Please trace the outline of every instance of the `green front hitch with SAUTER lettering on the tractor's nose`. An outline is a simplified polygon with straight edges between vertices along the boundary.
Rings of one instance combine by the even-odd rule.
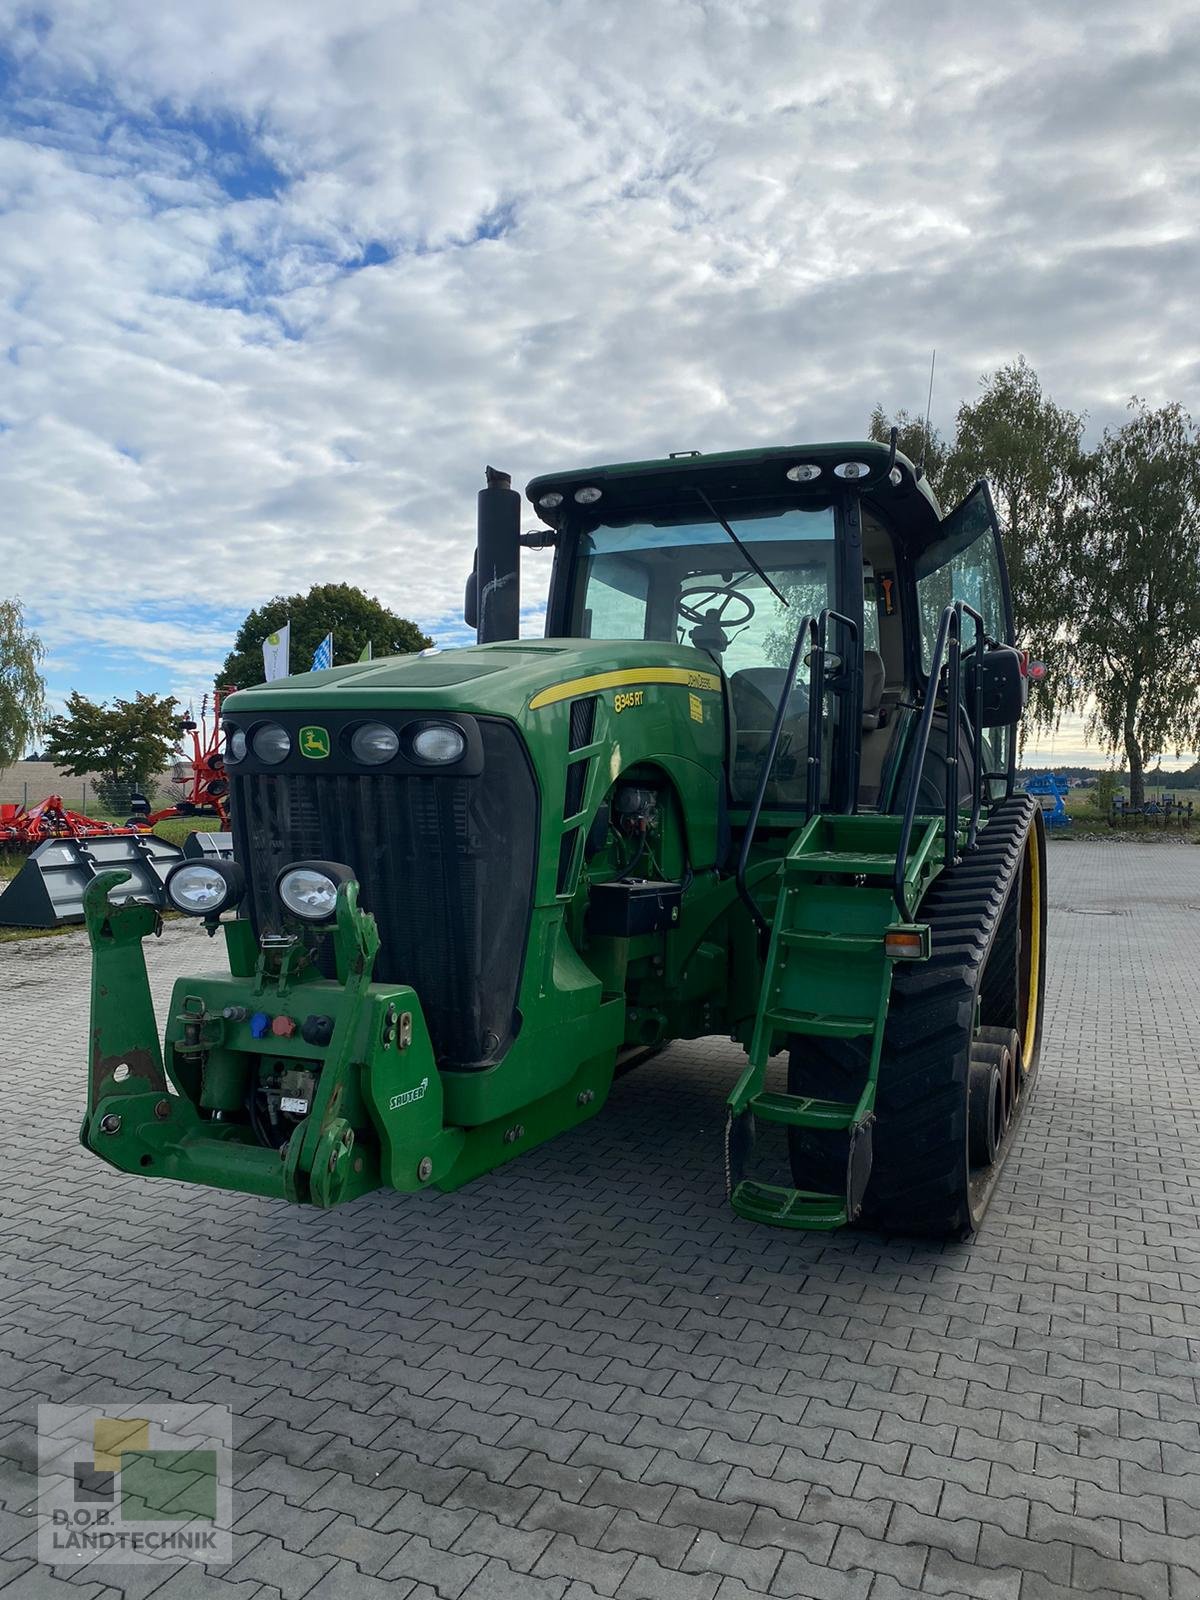
[[[421,1189],[446,1174],[462,1134],[443,1126],[442,1080],[416,994],[371,981],[379,933],[342,883],[336,979],[320,934],[267,938],[226,923],[235,976],[179,979],[165,1051],[142,941],[152,907],[114,906],[106,872],[83,896],[93,950],[86,1149],[125,1173],[165,1176],[317,1206],[379,1184]],[[288,1080],[286,1123],[264,1133],[262,1094]],[[294,1082],[307,1085],[298,1104]],[[254,1107],[259,1107],[256,1115]]]

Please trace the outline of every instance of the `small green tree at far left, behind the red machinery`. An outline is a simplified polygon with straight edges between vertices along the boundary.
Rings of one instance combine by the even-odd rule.
[[[75,778],[98,774],[98,794],[114,811],[131,790],[152,795],[154,779],[179,742],[178,701],[171,694],[134,694],[131,701],[90,701],[78,690],[67,709],[46,723],[46,754]]]

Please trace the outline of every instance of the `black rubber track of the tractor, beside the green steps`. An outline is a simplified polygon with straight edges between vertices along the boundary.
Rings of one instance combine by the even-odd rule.
[[[966,1082],[976,995],[990,952],[995,949],[1003,965],[1010,960],[1005,947],[1016,944],[1018,923],[1005,914],[1016,902],[1019,918],[1013,888],[1034,811],[1034,800],[1014,795],[992,813],[976,850],[939,874],[922,901],[918,915],[930,923],[930,960],[898,962],[893,970],[875,1094],[875,1160],[862,1214],[869,1227],[963,1237],[974,1226]],[[789,1091],[853,1099],[853,1085],[864,1072],[862,1045],[806,1038],[792,1051]],[[838,1189],[845,1146],[800,1134],[792,1136],[790,1150],[794,1182]]]

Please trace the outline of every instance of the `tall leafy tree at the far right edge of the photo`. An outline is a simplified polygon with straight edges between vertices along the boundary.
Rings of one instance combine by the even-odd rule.
[[[1179,405],[1131,411],[1086,458],[1066,522],[1061,654],[1142,805],[1147,758],[1200,741],[1200,434]]]

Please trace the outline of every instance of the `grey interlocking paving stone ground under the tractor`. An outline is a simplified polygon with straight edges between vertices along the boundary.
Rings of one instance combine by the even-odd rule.
[[[734,1218],[715,1042],[456,1195],[122,1178],[83,941],[0,947],[0,1595],[1200,1597],[1200,850],[1050,870],[1040,1083],[955,1246]],[[160,1003],[203,954],[152,947]],[[117,1395],[234,1408],[232,1566],[34,1563],[35,1406]]]

